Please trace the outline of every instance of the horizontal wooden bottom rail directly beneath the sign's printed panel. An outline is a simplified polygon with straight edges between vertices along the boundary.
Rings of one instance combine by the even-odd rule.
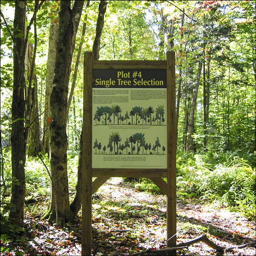
[[[166,169],[101,169],[92,168],[93,177],[152,178],[167,177]]]

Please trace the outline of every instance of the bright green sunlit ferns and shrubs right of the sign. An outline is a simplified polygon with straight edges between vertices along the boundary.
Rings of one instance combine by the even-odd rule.
[[[233,156],[228,163],[209,164],[205,155],[189,155],[177,163],[178,193],[196,194],[206,202],[219,201],[249,219],[255,216],[255,169]],[[211,160],[212,161],[212,160]]]

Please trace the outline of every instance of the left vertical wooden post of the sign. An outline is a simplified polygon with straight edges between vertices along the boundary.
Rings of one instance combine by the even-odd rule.
[[[82,255],[92,253],[92,52],[84,53]]]

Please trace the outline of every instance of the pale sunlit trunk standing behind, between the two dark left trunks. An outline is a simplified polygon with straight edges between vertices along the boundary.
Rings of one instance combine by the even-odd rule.
[[[57,16],[57,12],[54,12]],[[45,103],[44,103],[44,131],[43,131],[43,144],[44,154],[49,152],[50,141],[50,95],[52,94],[52,82],[54,76],[54,67],[56,59],[56,43],[58,36],[59,22],[51,20],[49,32],[49,46],[48,46],[48,59],[47,59],[47,73],[45,81]]]

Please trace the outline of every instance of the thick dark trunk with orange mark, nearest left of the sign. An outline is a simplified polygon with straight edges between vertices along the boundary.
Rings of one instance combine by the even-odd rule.
[[[67,102],[68,82],[72,55],[75,48],[84,1],[60,1],[59,32],[56,48],[53,88],[50,98],[50,166],[52,175],[52,200],[49,220],[58,227],[65,226],[74,216],[70,210],[67,170]],[[56,200],[56,201],[55,201]]]

